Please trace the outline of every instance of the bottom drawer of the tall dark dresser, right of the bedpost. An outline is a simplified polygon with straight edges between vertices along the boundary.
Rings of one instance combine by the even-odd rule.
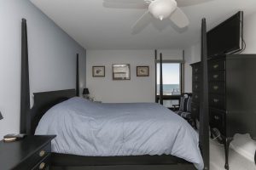
[[[225,135],[225,113],[211,108],[210,126],[211,128],[218,128],[219,132]]]

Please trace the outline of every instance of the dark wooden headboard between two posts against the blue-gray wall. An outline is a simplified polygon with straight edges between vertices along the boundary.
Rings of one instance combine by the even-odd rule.
[[[76,96],[75,89],[58,90],[51,92],[42,92],[34,94],[34,105],[30,111],[31,127],[28,130],[28,134],[34,134],[38,127],[38,122],[44,116],[44,113],[48,111],[54,105],[61,103],[67,99]]]

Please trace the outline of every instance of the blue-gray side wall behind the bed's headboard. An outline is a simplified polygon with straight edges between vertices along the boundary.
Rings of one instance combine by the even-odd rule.
[[[0,139],[20,131],[21,18],[27,20],[31,93],[75,88],[77,53],[85,86],[84,48],[28,0],[0,0]]]

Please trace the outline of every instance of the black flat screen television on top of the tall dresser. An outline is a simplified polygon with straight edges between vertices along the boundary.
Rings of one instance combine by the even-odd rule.
[[[222,54],[234,54],[243,48],[243,12],[225,20],[207,32],[207,55],[212,58]]]

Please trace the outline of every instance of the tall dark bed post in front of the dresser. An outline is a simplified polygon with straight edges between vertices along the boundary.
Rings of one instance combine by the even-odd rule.
[[[201,23],[201,102],[200,102],[200,148],[205,164],[209,169],[209,110],[208,110],[208,69],[207,69],[207,21]]]

